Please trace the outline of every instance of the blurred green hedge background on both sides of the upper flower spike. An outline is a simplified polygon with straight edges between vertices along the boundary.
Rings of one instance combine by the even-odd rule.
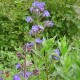
[[[76,0],[43,0],[51,12],[54,21],[53,30],[48,30],[47,36],[71,38],[78,31],[79,20],[74,9]],[[29,25],[25,18],[29,15],[32,0],[2,0],[0,1],[0,49],[14,51],[15,46],[29,40]]]

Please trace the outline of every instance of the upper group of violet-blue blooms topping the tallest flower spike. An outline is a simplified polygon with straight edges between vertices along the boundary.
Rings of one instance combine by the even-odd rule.
[[[45,2],[38,2],[38,1],[34,1],[32,3],[32,7],[30,8],[30,11],[32,14],[36,14],[36,16],[38,15],[38,19],[41,18],[45,18],[45,17],[50,17],[50,13],[48,10],[45,9]],[[33,22],[33,26],[29,32],[30,35],[35,36],[37,33],[39,33],[40,31],[43,31],[46,27],[53,27],[54,23],[50,20],[46,20],[43,21],[43,25],[40,25],[39,23],[37,23],[37,21],[35,21],[35,16],[27,16],[26,21],[27,23],[31,23]],[[40,22],[40,20],[38,21]]]

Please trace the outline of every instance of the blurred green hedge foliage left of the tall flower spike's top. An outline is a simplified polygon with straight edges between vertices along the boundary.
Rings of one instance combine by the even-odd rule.
[[[15,46],[29,40],[26,16],[31,0],[0,1],[0,49],[14,51]]]

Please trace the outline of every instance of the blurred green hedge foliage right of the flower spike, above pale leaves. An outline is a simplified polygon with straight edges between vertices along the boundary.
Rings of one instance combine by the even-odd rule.
[[[44,0],[43,0],[44,1]],[[66,35],[70,38],[78,32],[79,19],[74,6],[78,0],[45,0],[54,22],[53,30],[49,30],[49,37]],[[80,31],[79,31],[80,32]]]

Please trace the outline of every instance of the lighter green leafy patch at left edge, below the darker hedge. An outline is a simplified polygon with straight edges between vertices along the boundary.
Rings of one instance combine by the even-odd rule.
[[[15,57],[15,53],[0,50],[0,64],[3,64],[0,69],[5,68],[5,67],[14,68],[14,65],[17,62],[18,62],[18,59],[17,57]]]

